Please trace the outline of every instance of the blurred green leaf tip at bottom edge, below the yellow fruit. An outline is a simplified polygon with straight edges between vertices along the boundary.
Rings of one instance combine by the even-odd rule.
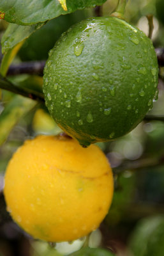
[[[78,252],[69,254],[69,256],[114,256],[114,254],[101,248],[85,247]]]

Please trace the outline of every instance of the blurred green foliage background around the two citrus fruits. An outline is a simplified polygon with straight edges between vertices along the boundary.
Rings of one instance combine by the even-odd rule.
[[[82,10],[50,20],[24,42],[13,65],[46,60],[48,51],[72,24],[97,13],[110,15],[116,6],[116,0],[108,0],[101,9]],[[154,47],[164,48],[164,1],[128,1],[126,20],[146,35],[149,26],[145,15],[149,14],[154,15]],[[0,20],[0,39],[7,26]],[[42,90],[41,76],[22,74],[8,79],[18,86]],[[153,109],[136,129],[119,140],[98,143],[110,161],[115,180],[112,207],[100,228],[88,237],[57,244],[36,241],[13,223],[6,212],[3,177],[10,157],[24,140],[38,134],[58,134],[61,129],[43,104],[0,91],[0,256],[164,255],[163,67],[160,67],[158,90]]]

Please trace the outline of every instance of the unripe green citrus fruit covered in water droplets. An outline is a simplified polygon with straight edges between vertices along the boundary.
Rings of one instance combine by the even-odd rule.
[[[80,144],[130,132],[151,108],[158,63],[147,36],[116,17],[72,26],[49,52],[43,92],[57,124]]]

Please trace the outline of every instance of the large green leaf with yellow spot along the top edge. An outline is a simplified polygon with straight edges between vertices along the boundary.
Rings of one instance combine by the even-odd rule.
[[[1,0],[0,12],[5,13],[4,19],[8,22],[32,25],[78,9],[101,5],[105,1],[107,0],[67,0],[64,4],[65,1],[61,0]]]

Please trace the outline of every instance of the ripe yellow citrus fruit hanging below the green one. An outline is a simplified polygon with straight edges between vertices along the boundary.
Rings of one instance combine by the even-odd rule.
[[[112,201],[110,165],[96,145],[38,136],[15,152],[4,196],[13,220],[45,241],[71,241],[96,229]]]

